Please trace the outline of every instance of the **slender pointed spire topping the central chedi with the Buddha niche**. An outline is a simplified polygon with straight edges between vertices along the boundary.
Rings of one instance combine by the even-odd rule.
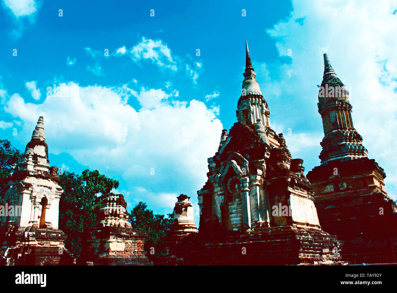
[[[241,97],[237,104],[237,119],[247,125],[256,124],[260,120],[263,125],[269,126],[268,104],[263,98],[259,84],[255,79],[256,73],[252,68],[247,41],[245,41],[245,51],[245,72],[243,73]]]

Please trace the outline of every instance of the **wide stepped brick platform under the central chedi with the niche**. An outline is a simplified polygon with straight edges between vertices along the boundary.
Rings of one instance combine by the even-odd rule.
[[[320,229],[281,226],[189,234],[175,245],[174,256],[159,264],[336,265],[345,264],[341,250],[342,242]]]

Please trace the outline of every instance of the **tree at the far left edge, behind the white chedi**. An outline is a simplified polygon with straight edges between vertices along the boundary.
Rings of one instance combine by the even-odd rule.
[[[0,140],[0,187],[6,184],[6,177],[13,164],[21,162],[23,153],[12,146],[8,140]]]

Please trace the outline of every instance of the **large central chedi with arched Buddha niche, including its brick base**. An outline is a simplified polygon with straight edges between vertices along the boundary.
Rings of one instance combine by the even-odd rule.
[[[208,159],[208,180],[198,191],[199,233],[176,249],[181,264],[337,264],[342,243],[324,232],[304,176],[269,109],[251,64],[246,69],[237,120],[222,131]],[[176,207],[175,207],[176,209]]]

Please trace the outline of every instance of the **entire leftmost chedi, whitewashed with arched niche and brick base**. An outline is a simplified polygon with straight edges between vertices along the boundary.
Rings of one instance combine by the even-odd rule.
[[[22,163],[14,165],[0,190],[6,208],[0,227],[0,264],[71,264],[58,230],[58,168],[50,167],[43,117],[39,118]]]

